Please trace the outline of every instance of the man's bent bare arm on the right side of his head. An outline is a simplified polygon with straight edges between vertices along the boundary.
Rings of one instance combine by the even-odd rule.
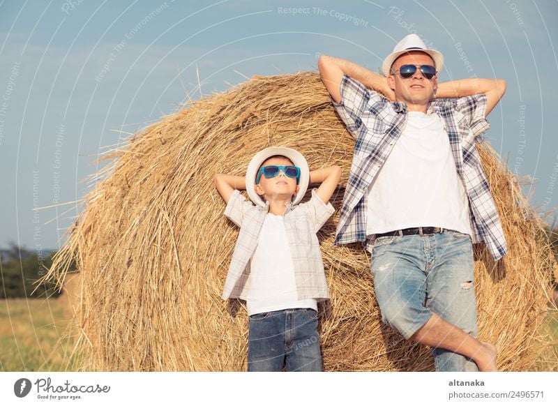
[[[506,81],[503,79],[462,79],[438,84],[437,98],[459,98],[486,93],[485,116],[498,104],[506,92]]]

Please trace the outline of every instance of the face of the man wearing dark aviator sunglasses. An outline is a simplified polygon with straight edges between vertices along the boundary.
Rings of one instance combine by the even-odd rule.
[[[417,66],[416,72],[405,79],[399,74],[399,68],[403,65],[434,65],[430,55],[420,51],[411,51],[402,54],[395,59],[391,66],[391,75],[387,78],[389,87],[395,92],[395,100],[407,103],[407,105],[427,105],[434,98],[438,88],[437,75],[432,80],[426,79]],[[395,74],[393,74],[395,73]]]

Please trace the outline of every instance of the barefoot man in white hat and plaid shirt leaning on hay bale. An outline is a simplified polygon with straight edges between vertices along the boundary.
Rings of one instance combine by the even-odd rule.
[[[414,34],[384,60],[384,77],[319,59],[356,138],[335,244],[361,241],[372,253],[382,319],[432,347],[436,370],[497,370],[495,345],[476,338],[472,242],[495,260],[507,246],[474,138],[506,82],[438,84],[443,65]]]

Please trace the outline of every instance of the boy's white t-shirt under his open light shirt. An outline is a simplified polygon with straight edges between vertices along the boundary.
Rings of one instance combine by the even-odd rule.
[[[283,217],[268,213],[250,262],[248,315],[292,308],[317,310],[315,299],[298,300]]]

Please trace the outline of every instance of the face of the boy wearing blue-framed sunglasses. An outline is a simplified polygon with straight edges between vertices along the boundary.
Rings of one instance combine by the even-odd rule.
[[[272,157],[264,160],[262,166],[266,165],[294,165],[291,160],[284,157]],[[289,178],[280,170],[279,174],[273,178],[260,176],[259,183],[255,186],[256,193],[266,201],[273,200],[292,200],[299,193],[299,185],[296,178]]]

